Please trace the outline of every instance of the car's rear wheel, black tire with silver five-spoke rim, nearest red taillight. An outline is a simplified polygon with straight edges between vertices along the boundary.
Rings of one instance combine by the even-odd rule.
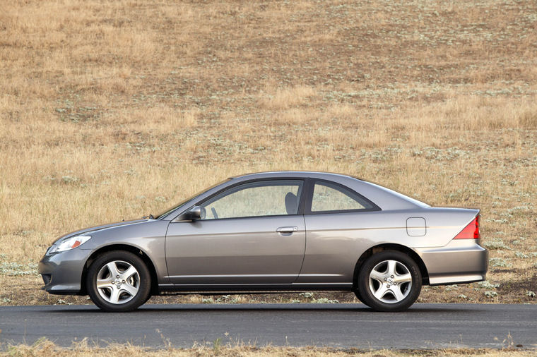
[[[362,301],[374,310],[406,310],[420,295],[420,268],[405,253],[384,250],[363,263],[358,275],[358,290]]]

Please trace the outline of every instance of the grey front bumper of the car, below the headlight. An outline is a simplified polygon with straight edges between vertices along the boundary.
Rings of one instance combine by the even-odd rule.
[[[90,253],[91,250],[74,248],[45,255],[37,267],[45,282],[41,289],[49,294],[80,294],[82,272]]]

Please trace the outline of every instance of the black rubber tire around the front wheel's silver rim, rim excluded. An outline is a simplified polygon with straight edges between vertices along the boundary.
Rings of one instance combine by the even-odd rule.
[[[131,301],[122,304],[113,304],[105,301],[99,294],[97,289],[97,274],[100,269],[108,262],[114,260],[122,260],[128,262],[138,270],[140,276],[140,287],[138,294],[131,299]],[[92,262],[88,270],[88,279],[86,281],[86,287],[91,301],[95,303],[103,311],[110,313],[124,313],[127,311],[136,310],[138,306],[142,305],[148,300],[151,293],[151,274],[146,266],[146,263],[133,253],[114,250],[111,252],[100,255],[95,261]]]

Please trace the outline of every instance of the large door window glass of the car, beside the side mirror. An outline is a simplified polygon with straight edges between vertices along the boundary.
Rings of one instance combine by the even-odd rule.
[[[201,219],[297,214],[301,193],[299,180],[245,183],[203,202]]]

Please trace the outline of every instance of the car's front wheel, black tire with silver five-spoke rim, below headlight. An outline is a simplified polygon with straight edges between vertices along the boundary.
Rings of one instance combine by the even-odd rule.
[[[90,265],[86,286],[91,300],[101,310],[125,313],[136,310],[151,296],[151,274],[137,255],[114,250],[100,255]]]

